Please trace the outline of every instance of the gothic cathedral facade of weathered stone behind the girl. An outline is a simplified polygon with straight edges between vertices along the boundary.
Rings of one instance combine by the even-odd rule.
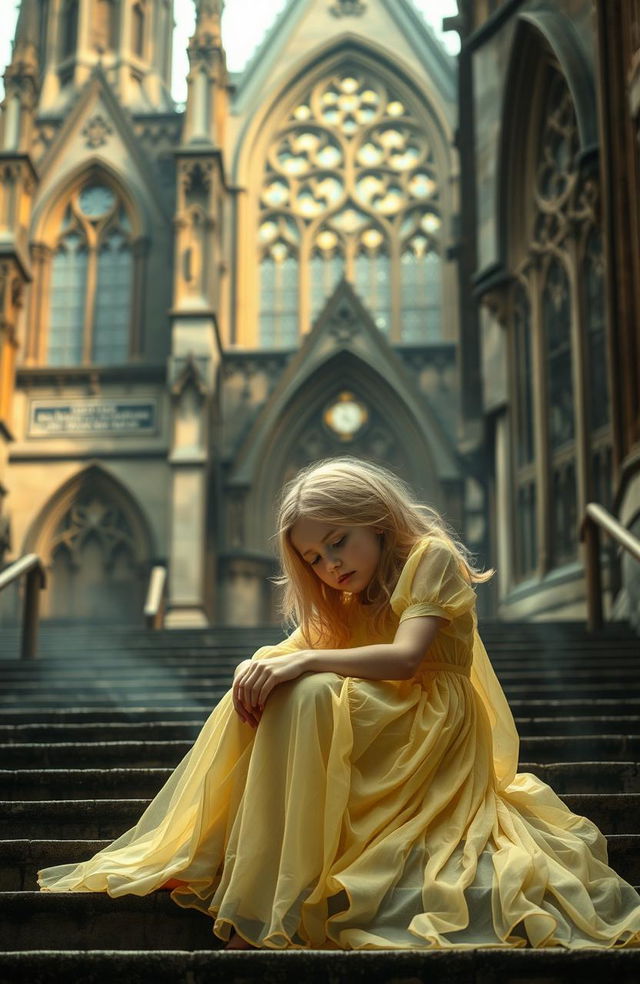
[[[139,623],[164,565],[169,626],[276,623],[278,490],[349,453],[497,568],[485,613],[583,617],[586,503],[640,515],[640,4],[460,2],[454,59],[411,0],[289,0],[236,74],[195,6],[177,106],[173,0],[22,0],[0,559],[49,618]]]

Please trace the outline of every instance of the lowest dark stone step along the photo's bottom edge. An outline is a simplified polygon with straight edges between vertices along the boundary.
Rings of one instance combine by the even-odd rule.
[[[147,918],[147,912],[142,911]],[[640,950],[634,949],[210,949],[216,945],[219,944],[210,943],[204,950],[191,952],[185,952],[184,946],[149,952],[8,952],[2,957],[2,965],[11,984],[638,984],[640,980]]]

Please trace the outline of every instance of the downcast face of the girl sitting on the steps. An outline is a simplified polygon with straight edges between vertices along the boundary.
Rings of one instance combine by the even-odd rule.
[[[321,581],[338,591],[364,591],[378,567],[382,530],[300,518],[291,542]]]

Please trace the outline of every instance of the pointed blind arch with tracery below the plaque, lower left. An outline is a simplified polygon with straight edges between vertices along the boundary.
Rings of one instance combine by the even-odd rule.
[[[25,550],[48,571],[45,617],[141,621],[153,538],[135,498],[102,466],[83,468],[51,496]]]

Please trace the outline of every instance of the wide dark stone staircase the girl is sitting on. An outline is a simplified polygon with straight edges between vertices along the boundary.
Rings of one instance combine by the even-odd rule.
[[[521,735],[521,770],[607,834],[640,885],[640,640],[574,623],[486,623]],[[38,868],[89,857],[132,826],[189,749],[232,671],[282,634],[46,626],[39,659],[0,630],[0,984],[640,982],[640,950],[225,952],[167,893],[46,894]]]

